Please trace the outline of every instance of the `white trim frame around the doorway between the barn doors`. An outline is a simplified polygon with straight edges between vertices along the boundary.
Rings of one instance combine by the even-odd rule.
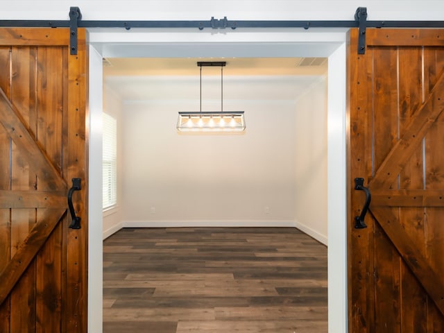
[[[187,32],[188,33],[188,32]],[[109,34],[109,33],[108,33]],[[106,38],[104,39],[106,35]],[[156,56],[164,57],[169,52],[178,54],[178,50],[182,51],[184,56],[191,56],[190,53],[198,53],[198,56],[210,56],[211,54],[221,55],[222,57],[239,57],[246,56],[251,52],[255,52],[257,56],[270,57],[282,55],[287,57],[309,57],[309,56],[323,56],[329,58],[329,70],[328,80],[329,83],[334,80],[334,85],[328,85],[328,125],[327,125],[327,216],[328,216],[328,252],[329,258],[331,255],[335,255],[334,265],[329,266],[329,301],[335,300],[335,307],[330,307],[329,311],[329,325],[333,327],[345,327],[346,325],[346,266],[345,266],[345,32],[326,33],[318,31],[318,33],[295,33],[294,31],[273,31],[272,35],[268,35],[264,38],[264,32],[247,32],[245,34],[235,33],[233,35],[216,35],[216,40],[219,42],[205,42],[207,35],[201,35],[204,41],[196,43],[196,33],[189,32],[189,42],[160,42],[157,39],[164,39],[164,35],[157,35],[157,33],[142,32],[136,37],[133,35],[132,42],[125,42],[128,40],[128,36],[123,36],[120,33],[111,33],[112,37],[107,34],[97,33],[94,31],[90,33],[90,87],[91,95],[96,96],[93,92],[101,92],[101,87],[92,85],[92,82],[102,84],[102,71],[96,68],[101,65],[102,58],[112,57],[139,57]],[[126,35],[126,34],[125,34]],[[230,35],[230,36],[229,36]],[[206,36],[206,37],[205,37]],[[228,36],[228,37],[227,37]],[[181,35],[180,37],[184,37]],[[225,38],[227,37],[227,38]],[[221,42],[220,39],[225,41]],[[239,43],[239,38],[244,42]],[[139,40],[139,42],[135,42]],[[104,42],[104,40],[107,40]],[[112,40],[112,42],[109,42]],[[157,40],[157,41],[156,41]],[[187,40],[187,38],[185,38]],[[245,42],[249,40],[249,42]],[[278,41],[278,42],[276,42]],[[279,42],[280,41],[280,42]],[[271,47],[273,46],[273,47]],[[247,51],[248,50],[248,51]],[[262,50],[262,51],[261,51]],[[273,53],[273,54],[271,54]],[[171,54],[171,53],[170,53]],[[196,56],[196,54],[194,54]],[[94,65],[95,64],[95,65]],[[332,65],[331,65],[332,64]],[[92,66],[94,65],[94,68]],[[94,90],[95,89],[95,90]],[[94,91],[93,91],[94,90]],[[92,98],[94,99],[94,98]],[[101,116],[96,112],[102,110],[101,101],[90,100],[90,117],[92,119],[90,133],[90,173],[94,173],[97,167],[101,167],[101,160],[94,160],[92,151],[94,151],[94,142],[99,146],[99,137],[94,135],[94,117],[96,119]],[[94,107],[94,108],[92,108]],[[99,123],[97,121],[96,123]],[[248,123],[247,123],[248,126]],[[96,133],[100,133],[100,128],[96,129]],[[97,141],[94,141],[97,140]],[[94,164],[95,168],[94,169]],[[341,171],[343,170],[343,171]],[[90,179],[93,179],[92,177]],[[94,185],[91,184],[91,189],[94,189]],[[92,206],[91,200],[94,198],[94,194],[90,196],[90,207]],[[96,195],[95,198],[99,198]],[[90,212],[90,214],[98,217],[101,212]],[[90,216],[90,220],[92,216]],[[97,227],[94,230],[102,233],[101,228]],[[100,230],[100,231],[99,231]],[[333,230],[334,232],[330,232]],[[92,239],[93,238],[93,239]],[[101,237],[93,231],[90,234],[89,244],[90,248],[96,248],[101,253],[101,245],[99,244],[99,238]],[[90,250],[91,253],[91,250]],[[91,256],[92,254],[90,254]],[[90,257],[89,266],[92,268],[92,262],[95,262],[94,268],[98,271],[101,269],[101,265],[96,266],[97,255]],[[330,264],[330,262],[329,262]],[[99,272],[98,272],[99,273]],[[91,277],[90,273],[90,277]],[[98,275],[94,275],[96,278],[101,278],[101,272]],[[89,289],[92,290],[94,285],[100,285],[98,280],[89,281]],[[330,286],[333,284],[333,287]],[[338,289],[338,285],[341,287]],[[336,287],[334,287],[336,286]],[[101,285],[100,285],[101,287]],[[101,288],[100,288],[101,289]],[[94,288],[95,290],[95,288]],[[330,294],[331,293],[331,294]],[[97,294],[96,294],[97,296]],[[334,298],[332,298],[334,297]],[[342,306],[338,307],[339,300]],[[93,294],[89,295],[89,305],[99,302]],[[336,323],[335,318],[336,317]],[[338,319],[339,318],[339,319]],[[91,319],[91,316],[90,316]],[[339,321],[339,323],[338,323]],[[94,325],[101,325],[99,323],[90,323],[90,327]],[[97,326],[96,326],[97,327]]]

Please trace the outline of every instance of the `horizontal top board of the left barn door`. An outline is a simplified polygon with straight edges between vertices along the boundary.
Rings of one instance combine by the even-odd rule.
[[[69,29],[65,28],[7,28],[0,31],[0,45],[68,46]]]

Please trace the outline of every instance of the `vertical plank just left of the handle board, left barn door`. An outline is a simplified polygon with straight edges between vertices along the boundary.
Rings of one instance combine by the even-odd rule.
[[[37,141],[53,165],[62,169],[62,123],[65,106],[64,58],[66,48],[37,49]],[[44,179],[40,190],[50,190]],[[37,212],[40,214],[40,212]],[[62,302],[62,223],[59,223],[37,255],[37,332],[60,332]]]

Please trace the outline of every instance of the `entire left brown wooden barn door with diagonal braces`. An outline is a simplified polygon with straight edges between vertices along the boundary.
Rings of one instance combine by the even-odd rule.
[[[0,332],[86,332],[86,87],[84,30],[0,29]]]

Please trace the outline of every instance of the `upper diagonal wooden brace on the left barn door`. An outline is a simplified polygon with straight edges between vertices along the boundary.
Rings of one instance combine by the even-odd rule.
[[[65,181],[60,173],[53,167],[44,149],[35,142],[30,130],[26,127],[24,119],[17,108],[8,101],[3,90],[0,89],[0,122],[6,129],[12,141],[20,149],[20,153],[28,161],[33,161],[37,175],[51,184],[51,189],[66,189]]]

